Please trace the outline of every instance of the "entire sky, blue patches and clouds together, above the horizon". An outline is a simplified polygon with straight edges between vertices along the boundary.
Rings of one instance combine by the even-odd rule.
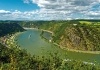
[[[100,19],[100,0],[0,0],[0,20]]]

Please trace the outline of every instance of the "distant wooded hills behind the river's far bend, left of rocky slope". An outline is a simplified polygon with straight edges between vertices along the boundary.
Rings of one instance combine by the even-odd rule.
[[[55,30],[61,24],[66,23],[66,21],[23,21],[19,25],[22,27],[38,28],[38,29],[48,29]]]

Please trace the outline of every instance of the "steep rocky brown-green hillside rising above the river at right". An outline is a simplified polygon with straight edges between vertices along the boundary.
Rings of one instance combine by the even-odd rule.
[[[63,24],[55,32],[53,41],[77,50],[100,50],[100,28],[94,25]]]

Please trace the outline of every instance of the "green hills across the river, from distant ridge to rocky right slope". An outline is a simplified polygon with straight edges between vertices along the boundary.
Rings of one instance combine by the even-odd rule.
[[[62,47],[100,51],[99,20],[31,21],[20,25],[53,31],[53,42]]]

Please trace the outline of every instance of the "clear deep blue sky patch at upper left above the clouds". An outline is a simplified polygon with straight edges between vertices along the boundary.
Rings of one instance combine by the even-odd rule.
[[[37,4],[24,3],[23,0],[0,0],[0,9],[4,10],[20,10],[20,11],[31,11],[39,9]]]

